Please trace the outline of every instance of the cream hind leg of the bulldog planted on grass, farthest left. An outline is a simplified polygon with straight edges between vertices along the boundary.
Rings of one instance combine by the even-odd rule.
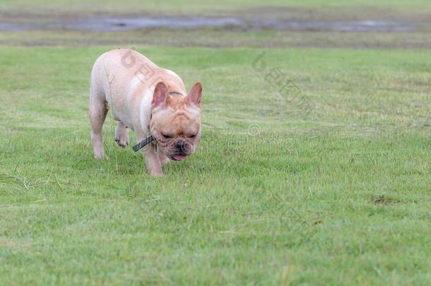
[[[105,96],[100,96],[97,89],[90,88],[90,106],[88,109],[91,124],[91,142],[93,143],[94,157],[96,159],[107,158],[103,148],[102,126],[107,114]]]

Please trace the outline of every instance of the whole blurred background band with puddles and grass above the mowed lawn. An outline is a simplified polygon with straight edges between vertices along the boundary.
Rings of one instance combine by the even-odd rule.
[[[0,44],[431,47],[431,1],[2,0]]]

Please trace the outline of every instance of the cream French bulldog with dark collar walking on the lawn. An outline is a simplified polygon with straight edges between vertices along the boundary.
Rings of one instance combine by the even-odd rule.
[[[108,109],[118,121],[115,141],[129,144],[128,129],[140,142],[155,141],[143,148],[154,176],[163,174],[169,159],[181,161],[194,153],[201,137],[201,83],[189,94],[181,78],[131,49],[102,54],[93,66],[90,82],[90,124],[94,157],[105,158],[102,125]]]

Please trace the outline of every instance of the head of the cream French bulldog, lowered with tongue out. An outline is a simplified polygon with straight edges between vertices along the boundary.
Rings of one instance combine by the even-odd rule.
[[[163,82],[155,85],[150,131],[167,157],[181,161],[201,138],[202,85],[195,83],[188,95],[175,93]]]

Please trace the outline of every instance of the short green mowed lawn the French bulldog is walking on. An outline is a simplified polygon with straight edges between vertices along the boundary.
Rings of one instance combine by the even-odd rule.
[[[431,52],[136,47],[203,84],[199,150],[152,178],[111,114],[93,159],[109,49],[0,47],[2,285],[430,285]]]

